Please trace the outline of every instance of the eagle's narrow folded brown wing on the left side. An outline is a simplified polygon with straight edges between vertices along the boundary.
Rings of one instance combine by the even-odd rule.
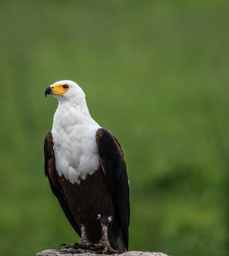
[[[72,213],[69,210],[68,204],[65,200],[65,195],[60,188],[59,181],[58,181],[58,174],[56,172],[55,166],[55,155],[53,151],[53,140],[52,140],[52,133],[49,132],[45,138],[45,145],[44,145],[44,153],[45,153],[45,176],[49,179],[49,184],[52,189],[53,194],[58,199],[60,206],[65,212],[65,216],[68,218],[70,224],[74,228],[74,230],[78,233],[81,237],[81,231],[79,226],[76,224],[75,219],[73,218]]]

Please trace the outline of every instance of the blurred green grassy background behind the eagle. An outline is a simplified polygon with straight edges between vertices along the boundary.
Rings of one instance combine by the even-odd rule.
[[[1,1],[0,255],[79,240],[43,170],[72,79],[122,145],[130,250],[229,254],[228,1]]]

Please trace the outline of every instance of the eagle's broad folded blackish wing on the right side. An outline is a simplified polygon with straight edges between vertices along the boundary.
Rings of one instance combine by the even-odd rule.
[[[96,132],[96,143],[99,151],[100,164],[105,174],[107,184],[112,195],[114,210],[119,217],[123,240],[128,250],[129,242],[129,184],[123,152],[116,138],[100,128]]]

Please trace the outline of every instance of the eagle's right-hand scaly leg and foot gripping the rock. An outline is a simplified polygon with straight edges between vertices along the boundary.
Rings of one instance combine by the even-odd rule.
[[[109,217],[110,218],[110,217]],[[102,217],[100,219],[102,227],[102,237],[99,242],[95,244],[94,250],[97,250],[98,254],[118,254],[119,251],[113,250],[108,240],[108,220],[109,218]],[[110,218],[111,220],[111,218]]]

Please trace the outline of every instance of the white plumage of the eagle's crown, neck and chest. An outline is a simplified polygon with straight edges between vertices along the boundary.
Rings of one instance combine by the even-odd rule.
[[[53,127],[53,149],[56,171],[72,184],[92,175],[99,168],[99,154],[96,145],[96,131],[99,124],[90,116],[83,90],[72,81],[58,81],[55,84],[69,84],[70,88],[59,101]],[[55,85],[53,84],[53,85]]]

